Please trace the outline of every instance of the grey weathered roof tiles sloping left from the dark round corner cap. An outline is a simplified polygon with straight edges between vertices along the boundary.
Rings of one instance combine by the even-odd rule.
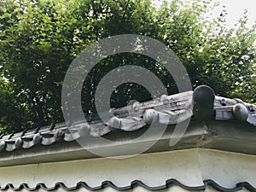
[[[52,124],[47,127],[38,127],[35,130],[25,130],[18,133],[12,133],[0,137],[0,152],[14,151],[18,148],[32,148],[37,145],[50,145],[56,142],[71,142],[79,137],[100,137],[114,130],[135,131],[155,122],[158,119],[160,123],[168,122],[168,124],[177,123],[175,119],[180,119],[180,113],[172,113],[172,109],[178,112],[184,108],[189,108],[185,101],[190,101],[192,91],[181,93],[175,96],[161,96],[159,101],[149,101],[142,103],[134,103],[132,106],[110,110],[110,119],[108,123],[102,123],[99,119],[87,119],[89,124],[77,124],[71,127],[63,124]],[[184,103],[177,103],[182,97]],[[172,102],[171,102],[172,101]],[[181,102],[181,101],[179,101]],[[177,103],[177,104],[175,104]],[[166,104],[166,106],[163,105]],[[170,108],[172,106],[172,108]],[[128,110],[128,108],[130,108]],[[157,108],[154,110],[152,108]],[[169,109],[169,111],[168,111]],[[127,113],[127,110],[131,112]],[[165,112],[161,112],[164,110]],[[191,110],[189,111],[191,112]],[[129,115],[132,115],[129,116]],[[192,112],[187,114],[191,116]],[[172,116],[172,122],[170,117]],[[187,119],[188,117],[185,117]]]

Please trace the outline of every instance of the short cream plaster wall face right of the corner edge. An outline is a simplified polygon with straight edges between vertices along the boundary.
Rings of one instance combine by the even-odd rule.
[[[211,178],[225,188],[248,182],[256,187],[256,156],[201,149],[201,177]]]

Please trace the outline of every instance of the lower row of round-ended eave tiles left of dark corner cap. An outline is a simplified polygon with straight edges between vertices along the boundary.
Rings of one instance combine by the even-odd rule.
[[[153,123],[172,125],[177,123],[177,119],[185,120],[191,117],[192,110],[180,110],[181,113],[176,111],[159,112],[154,109],[148,109],[143,113],[143,117],[127,117],[117,118],[113,116],[109,119],[108,123],[96,124],[78,124],[70,127],[50,127],[49,129],[38,129],[30,134],[22,132],[19,136],[10,135],[9,137],[0,139],[0,152],[1,151],[14,151],[18,148],[32,148],[36,145],[50,145],[57,142],[71,142],[80,137],[101,137],[110,131],[136,131],[143,128],[145,125]],[[182,115],[183,113],[183,115]]]

